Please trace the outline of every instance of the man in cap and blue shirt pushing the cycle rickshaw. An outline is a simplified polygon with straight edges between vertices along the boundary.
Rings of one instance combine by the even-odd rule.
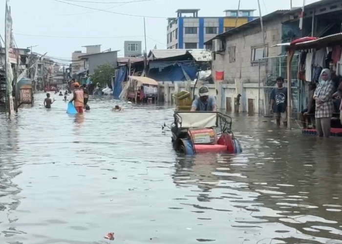
[[[209,96],[207,86],[199,87],[199,98],[192,102],[190,111],[216,111],[216,100],[213,96]]]

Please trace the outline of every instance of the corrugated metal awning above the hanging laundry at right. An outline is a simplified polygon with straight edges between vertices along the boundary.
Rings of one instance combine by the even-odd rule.
[[[293,45],[295,50],[303,50],[303,49],[311,49],[311,48],[320,48],[323,46],[331,46],[333,44],[338,44],[342,42],[342,33],[337,33],[333,35],[329,35],[326,37],[321,37],[311,41],[303,41]],[[273,46],[286,46],[287,49],[290,49],[290,42],[287,43],[279,43]],[[272,46],[272,47],[273,47]]]

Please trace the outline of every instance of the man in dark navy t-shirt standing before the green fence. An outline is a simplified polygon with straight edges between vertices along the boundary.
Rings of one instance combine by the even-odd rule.
[[[284,85],[284,78],[277,78],[277,87],[271,92],[271,113],[275,113],[277,125],[280,126],[282,119],[284,126],[287,126],[287,88]]]

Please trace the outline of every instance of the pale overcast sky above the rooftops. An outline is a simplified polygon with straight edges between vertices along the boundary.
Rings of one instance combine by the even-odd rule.
[[[48,52],[47,55],[61,57],[65,61],[71,59],[73,51],[85,51],[82,46],[92,44],[102,44],[102,51],[109,48],[121,50],[119,56],[123,56],[125,40],[143,41],[144,47],[143,18],[89,8],[128,15],[160,17],[146,18],[147,49],[150,50],[155,44],[159,49],[166,48],[166,18],[176,17],[177,9],[198,8],[201,9],[198,13],[200,17],[213,17],[224,16],[223,10],[237,9],[238,6],[238,0],[140,0],[122,3],[127,1],[134,0],[10,0],[15,41],[20,48],[38,45],[33,48],[34,52]],[[317,0],[306,0],[306,4],[315,1]],[[2,39],[5,2],[6,0],[0,0]],[[303,3],[302,0],[292,2],[293,6],[301,6]],[[265,15],[278,9],[289,9],[290,0],[260,0],[260,5],[262,15]],[[257,0],[241,0],[240,9],[244,8],[258,9]],[[258,15],[258,11],[255,15]]]

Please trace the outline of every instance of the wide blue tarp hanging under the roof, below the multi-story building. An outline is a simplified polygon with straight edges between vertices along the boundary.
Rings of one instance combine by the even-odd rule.
[[[149,66],[148,76],[156,81],[193,81],[198,71],[193,61],[152,61]]]

